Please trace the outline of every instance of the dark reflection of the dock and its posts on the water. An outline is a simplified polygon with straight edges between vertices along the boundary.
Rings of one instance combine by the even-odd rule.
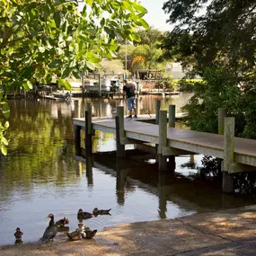
[[[232,196],[219,193],[216,181],[193,180],[179,174],[157,172],[155,164],[135,160],[137,155],[148,157],[148,154],[139,154],[137,150],[128,150],[129,160],[125,161],[115,161],[114,152],[93,154],[93,168],[116,177],[119,205],[124,205],[128,194],[139,188],[158,197],[160,218],[168,216],[168,202],[191,213],[205,212],[209,208],[234,207],[235,204],[241,206],[241,202],[237,202]],[[82,157],[75,158],[85,161]],[[90,172],[93,175],[93,170]],[[211,190],[208,190],[208,187],[211,187]],[[246,202],[243,204],[246,205]]]

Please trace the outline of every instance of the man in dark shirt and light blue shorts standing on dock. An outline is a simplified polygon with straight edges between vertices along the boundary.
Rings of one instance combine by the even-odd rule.
[[[132,111],[134,111],[134,118],[137,118],[136,99],[135,99],[136,84],[124,80],[123,95],[127,95],[128,116],[127,119],[132,118]]]

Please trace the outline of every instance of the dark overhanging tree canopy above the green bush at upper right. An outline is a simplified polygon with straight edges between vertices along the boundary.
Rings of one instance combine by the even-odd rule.
[[[255,0],[169,0],[163,4],[175,28],[163,48],[200,73],[206,66],[225,66],[234,75],[254,75]]]

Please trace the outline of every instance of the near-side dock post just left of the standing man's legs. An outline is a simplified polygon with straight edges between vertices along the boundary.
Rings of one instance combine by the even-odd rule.
[[[123,138],[125,137],[124,128],[124,107],[117,107],[116,119],[116,142],[117,142],[117,157],[125,157],[125,145],[123,144]]]

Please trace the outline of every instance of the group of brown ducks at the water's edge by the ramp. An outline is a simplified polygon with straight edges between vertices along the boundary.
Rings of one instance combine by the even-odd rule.
[[[97,229],[91,230],[88,226],[85,226],[83,222],[84,219],[91,218],[93,216],[99,215],[110,215],[110,209],[108,210],[99,210],[98,208],[93,209],[93,213],[84,212],[83,209],[79,209],[77,212],[77,219],[79,220],[78,227],[75,229],[74,232],[68,233],[66,232],[67,237],[71,241],[77,241],[81,239],[92,239],[94,235],[97,233]],[[54,221],[54,215],[49,214],[50,218],[49,226],[46,228],[43,236],[40,238],[41,242],[49,242],[53,241],[54,237],[57,235],[58,232],[65,232],[69,231],[69,227],[65,226],[69,224],[68,218],[65,216],[64,218],[58,220],[57,222]],[[15,236],[15,243],[23,243],[22,242],[22,231],[20,227],[16,228],[16,232],[14,233]]]

